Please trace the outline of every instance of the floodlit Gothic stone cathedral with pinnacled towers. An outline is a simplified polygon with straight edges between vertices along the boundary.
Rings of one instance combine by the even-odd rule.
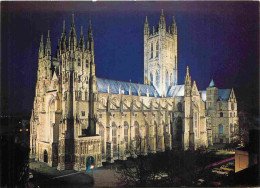
[[[178,84],[178,34],[144,23],[144,84],[99,78],[89,23],[85,42],[72,15],[56,54],[51,39],[39,47],[37,83],[30,120],[30,157],[58,170],[86,170],[128,157],[230,143],[238,128],[233,89],[212,80],[199,91],[189,67]],[[140,31],[141,32],[141,31]],[[97,46],[98,47],[98,46]]]

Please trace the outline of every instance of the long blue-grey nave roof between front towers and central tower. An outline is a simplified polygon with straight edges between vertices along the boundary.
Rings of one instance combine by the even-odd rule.
[[[140,89],[141,96],[146,96],[148,90],[149,96],[154,97],[156,93],[157,97],[159,97],[159,93],[156,91],[154,86],[151,85],[97,78],[98,92],[108,93],[108,87],[110,88],[110,92],[115,94],[119,94],[119,88],[121,87],[123,94],[129,95],[129,89],[131,87],[132,95],[138,95]]]

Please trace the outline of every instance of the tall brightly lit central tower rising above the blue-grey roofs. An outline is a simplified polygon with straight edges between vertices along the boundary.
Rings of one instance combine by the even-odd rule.
[[[157,28],[150,32],[148,19],[144,24],[144,84],[153,85],[165,97],[169,86],[177,85],[177,25],[173,17],[166,28],[163,10]]]

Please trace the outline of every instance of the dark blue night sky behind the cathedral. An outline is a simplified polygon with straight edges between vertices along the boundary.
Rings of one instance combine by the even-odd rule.
[[[30,114],[35,95],[40,35],[50,29],[52,52],[66,20],[75,14],[85,39],[92,21],[97,76],[143,83],[143,26],[157,25],[164,9],[167,27],[178,27],[179,84],[185,67],[205,90],[234,88],[240,104],[258,108],[258,2],[1,2],[1,110]],[[248,103],[249,101],[249,103]]]

